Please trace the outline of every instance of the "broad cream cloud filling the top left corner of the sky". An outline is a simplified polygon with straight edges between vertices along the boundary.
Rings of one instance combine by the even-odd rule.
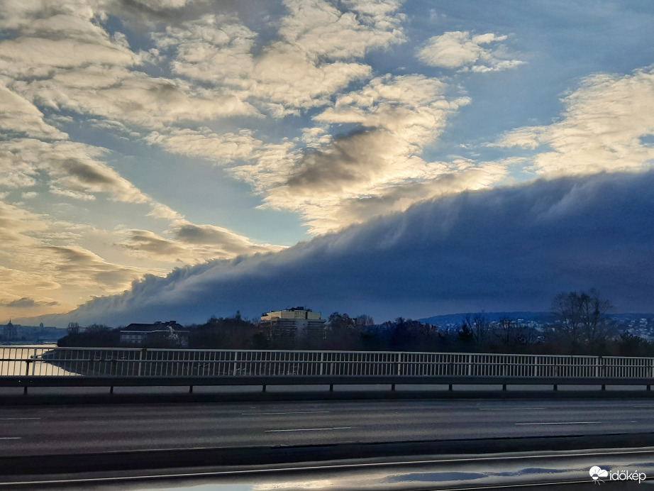
[[[181,3],[163,9],[173,6]],[[38,107],[154,130],[179,121],[255,114],[228,90],[136,70],[153,54],[131,50],[123,33],[109,34],[111,9],[113,2],[11,2],[4,25],[13,36],[0,41],[0,73],[13,79],[9,88]]]

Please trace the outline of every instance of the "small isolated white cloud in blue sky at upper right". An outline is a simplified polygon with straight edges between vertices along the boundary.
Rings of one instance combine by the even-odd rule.
[[[503,45],[506,35],[493,33],[470,35],[467,31],[452,31],[429,38],[418,52],[418,59],[431,67],[472,70],[473,72],[494,72],[522,65],[520,60],[511,60]],[[484,46],[493,45],[492,48]]]

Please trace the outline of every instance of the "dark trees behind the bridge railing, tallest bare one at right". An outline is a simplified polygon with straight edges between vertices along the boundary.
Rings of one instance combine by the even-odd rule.
[[[187,326],[188,348],[314,349],[343,351],[444,351],[462,353],[531,353],[654,356],[654,343],[620,332],[610,318],[609,300],[595,289],[562,292],[552,302],[553,322],[533,326],[509,316],[489,321],[484,314],[462,316],[457,325],[439,326],[398,317],[375,324],[365,314],[328,316],[322,336],[275,336],[258,321],[211,316],[204,324]],[[83,331],[70,324],[59,346],[120,346],[121,328],[92,325]],[[143,346],[179,348],[170,339],[153,338]]]

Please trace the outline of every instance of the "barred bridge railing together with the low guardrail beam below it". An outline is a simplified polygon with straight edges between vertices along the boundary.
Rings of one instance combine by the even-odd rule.
[[[0,385],[654,383],[654,358],[0,346]]]

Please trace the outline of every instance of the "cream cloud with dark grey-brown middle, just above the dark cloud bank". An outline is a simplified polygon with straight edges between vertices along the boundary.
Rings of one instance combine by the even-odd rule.
[[[370,218],[372,209],[401,211],[442,194],[445,189],[437,182],[445,175],[453,177],[460,170],[458,164],[426,162],[419,155],[443,131],[448,117],[469,102],[447,96],[447,89],[440,80],[422,75],[385,76],[338,96],[314,120],[327,126],[355,125],[356,129],[293,155],[295,165],[280,169],[289,177],[265,191],[265,204],[299,211],[312,233],[323,233]],[[504,171],[494,174],[499,179]],[[459,182],[475,189],[479,183],[472,183],[471,176],[460,176]],[[401,191],[416,186],[421,192]],[[382,201],[387,206],[379,206]],[[369,211],[363,210],[367,205]]]

